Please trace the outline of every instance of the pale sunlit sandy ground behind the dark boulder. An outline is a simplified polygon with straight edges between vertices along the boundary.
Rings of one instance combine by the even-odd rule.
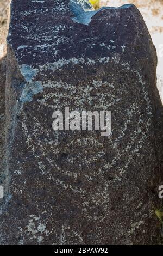
[[[0,59],[6,54],[10,0],[0,0]],[[100,5],[119,7],[133,3],[140,10],[158,52],[158,89],[163,102],[163,0],[100,0]]]

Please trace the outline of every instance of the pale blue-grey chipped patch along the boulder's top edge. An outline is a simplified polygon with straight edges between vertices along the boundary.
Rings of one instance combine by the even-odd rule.
[[[121,7],[102,7],[98,10],[94,10],[91,7],[91,5],[87,2],[87,0],[83,2],[84,3],[82,4],[79,0],[70,0],[70,10],[75,16],[72,18],[72,20],[84,25],[89,25],[92,20],[92,17],[95,16],[95,14],[99,13],[99,11],[101,10],[127,9],[134,6],[133,4],[124,4]]]

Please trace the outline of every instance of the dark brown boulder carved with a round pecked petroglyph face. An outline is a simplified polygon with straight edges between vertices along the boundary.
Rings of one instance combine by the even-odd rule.
[[[12,1],[0,243],[159,244],[155,47],[134,5],[86,26],[68,4]],[[54,132],[52,114],[65,106],[111,111],[111,137]]]

